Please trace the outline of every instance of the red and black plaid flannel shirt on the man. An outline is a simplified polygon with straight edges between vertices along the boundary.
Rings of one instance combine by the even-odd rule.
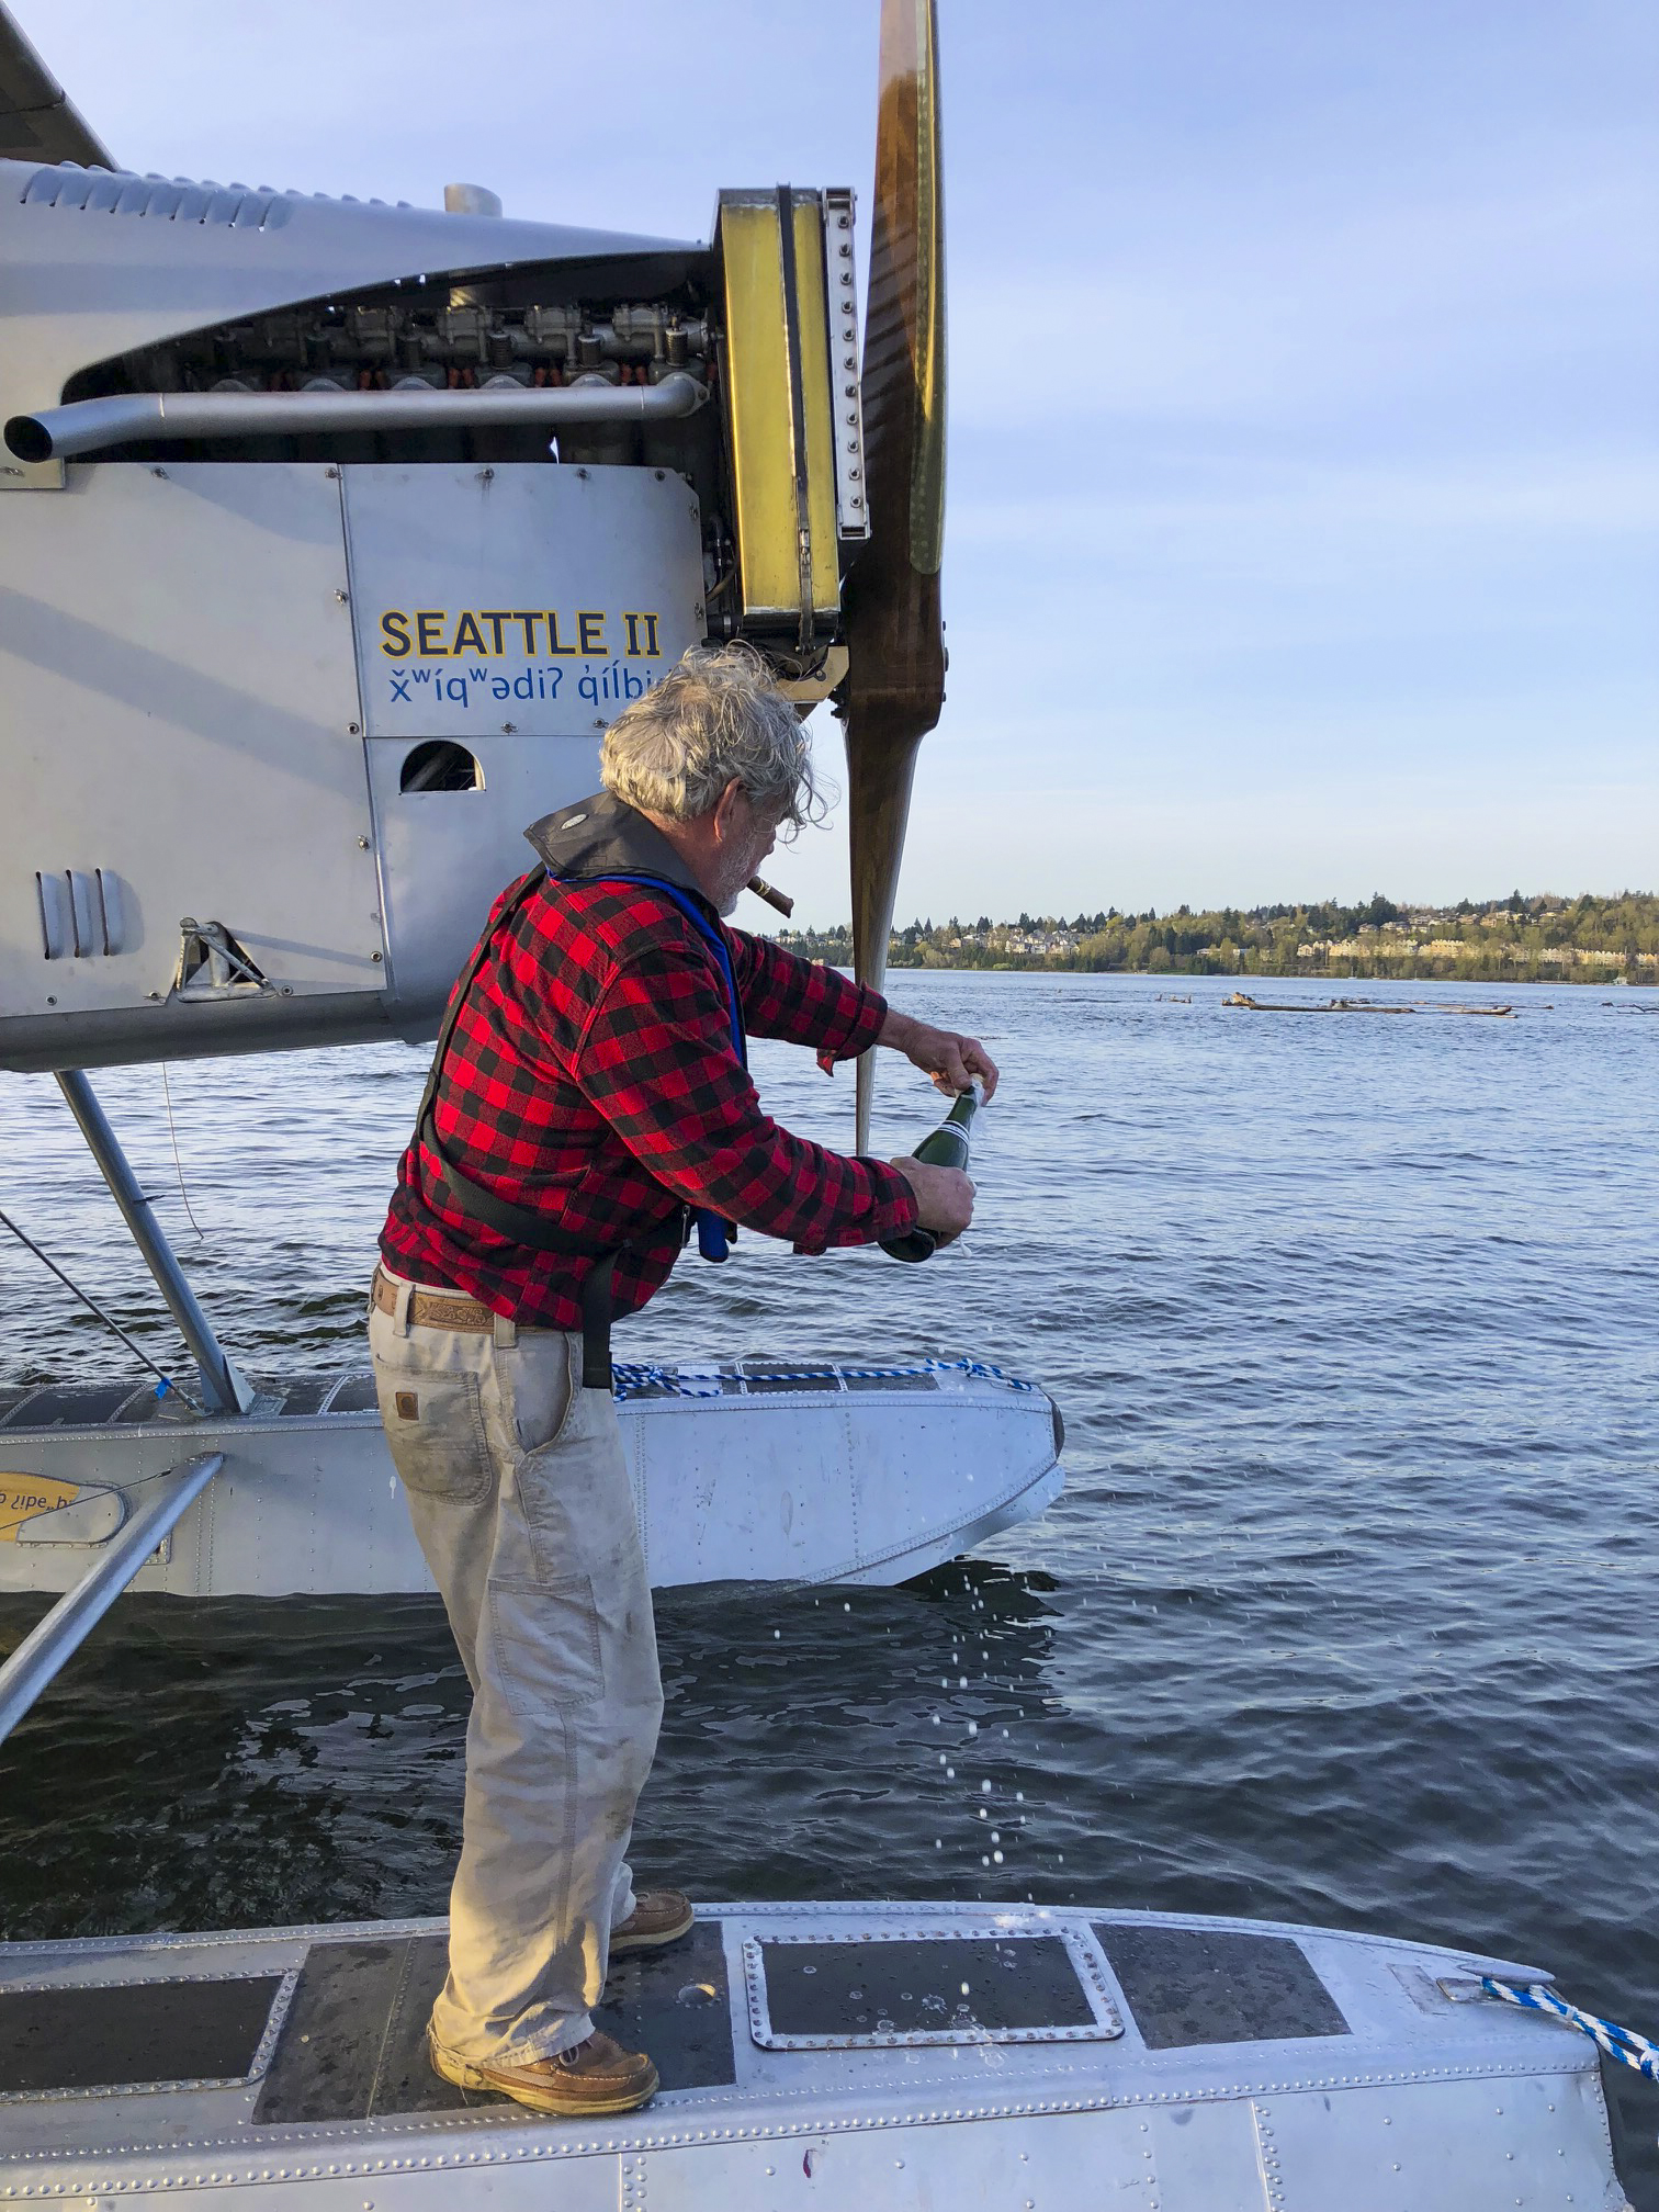
[[[825,1071],[876,1042],[887,1015],[876,991],[741,929],[726,940],[750,1035],[816,1046]],[[456,1018],[434,1115],[471,1181],[546,1210],[575,1239],[630,1245],[615,1272],[617,1314],[666,1281],[681,1203],[801,1252],[916,1225],[896,1168],[827,1152],[761,1110],[732,1051],[714,953],[639,883],[549,878],[531,891]],[[438,1206],[434,1168],[416,1137],[380,1234],[385,1263],[531,1327],[580,1327],[577,1290],[593,1263],[533,1252]]]

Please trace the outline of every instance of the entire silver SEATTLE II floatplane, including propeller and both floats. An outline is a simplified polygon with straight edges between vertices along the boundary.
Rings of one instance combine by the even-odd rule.
[[[436,212],[139,177],[0,11],[0,1064],[58,1077],[197,1369],[184,1418],[146,1385],[0,1407],[0,1584],[64,1588],[0,1728],[128,1582],[420,1579],[365,1383],[239,1371],[88,1068],[431,1035],[520,827],[703,637],[836,697],[880,978],[945,670],[933,53],[931,0],[885,0],[860,349],[849,192],[721,192],[686,246],[473,186]],[[860,1144],[867,1113],[865,1068]],[[1046,1394],[978,1360],[619,1385],[659,1582],[898,1579],[1060,1482]],[[440,1922],[0,1947],[0,2201],[1624,2203],[1595,2046],[1515,1962],[1115,1909],[710,1905],[597,2015],[664,2090],[573,2128],[431,2075],[442,1949]]]

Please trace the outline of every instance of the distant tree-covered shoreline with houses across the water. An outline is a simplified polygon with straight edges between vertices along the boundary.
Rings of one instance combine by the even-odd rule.
[[[810,960],[845,967],[852,929],[785,929],[781,942]],[[1455,907],[1402,907],[1376,894],[1347,907],[1177,907],[1159,916],[1022,914],[993,922],[914,920],[887,940],[894,967],[1082,969],[1137,975],[1398,975],[1473,982],[1659,984],[1659,896],[1460,898]]]

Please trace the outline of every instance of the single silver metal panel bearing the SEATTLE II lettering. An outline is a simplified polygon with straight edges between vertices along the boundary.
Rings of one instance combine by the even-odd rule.
[[[524,827],[597,787],[604,726],[701,639],[697,500],[655,469],[341,480],[392,978],[436,1009],[533,863]],[[480,785],[405,792],[425,739],[462,743]]]

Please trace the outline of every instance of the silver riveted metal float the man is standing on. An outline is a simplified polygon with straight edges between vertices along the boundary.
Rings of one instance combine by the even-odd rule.
[[[664,2088],[440,2081],[442,1922],[0,1949],[0,2203],[113,2212],[1619,2212],[1533,1966],[1245,1920],[721,1905],[619,1966]]]

